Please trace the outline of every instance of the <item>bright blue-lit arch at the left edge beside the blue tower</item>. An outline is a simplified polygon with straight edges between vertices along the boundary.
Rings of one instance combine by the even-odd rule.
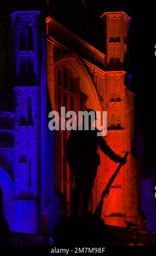
[[[3,191],[4,216],[9,224],[10,229],[13,227],[13,196],[14,183],[7,172],[0,166],[0,187]]]

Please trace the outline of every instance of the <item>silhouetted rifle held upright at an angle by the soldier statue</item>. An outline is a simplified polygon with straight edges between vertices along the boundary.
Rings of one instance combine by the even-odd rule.
[[[128,154],[129,154],[129,152],[126,152],[123,158],[126,159],[127,156],[128,156]],[[122,167],[122,163],[120,163],[120,164],[118,165],[118,167],[116,168],[114,174],[113,174],[113,175],[111,176],[111,178],[109,179],[108,184],[106,185],[106,187],[104,188],[104,190],[103,190],[103,192],[102,192],[102,194],[101,194],[101,200],[99,201],[99,203],[98,203],[98,205],[97,205],[97,208],[96,208],[96,210],[95,210],[95,212],[94,212],[94,214],[93,214],[96,218],[101,218],[101,215],[102,215],[102,206],[103,206],[103,199],[104,199],[104,197],[107,197],[107,196],[108,196],[108,194],[109,194],[109,188],[110,188],[111,185],[113,184],[113,182],[114,182],[114,180],[115,180],[115,178],[116,178],[118,172],[120,171],[121,167]]]

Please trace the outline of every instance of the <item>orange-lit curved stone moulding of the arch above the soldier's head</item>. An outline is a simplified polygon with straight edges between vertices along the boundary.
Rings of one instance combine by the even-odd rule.
[[[65,54],[55,62],[55,68],[60,65],[65,65],[80,78],[80,90],[88,96],[87,107],[102,111],[95,84],[82,60],[75,53]]]

